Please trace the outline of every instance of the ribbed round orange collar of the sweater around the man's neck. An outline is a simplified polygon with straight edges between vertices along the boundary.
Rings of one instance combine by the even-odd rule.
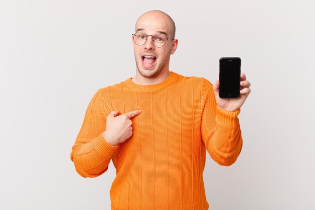
[[[154,85],[138,85],[138,84],[135,84],[134,82],[132,82],[132,80],[131,80],[132,78],[127,79],[123,83],[129,89],[134,90],[134,91],[154,92],[154,91],[162,90],[162,89],[166,88],[167,86],[171,85],[172,83],[174,83],[176,81],[178,76],[179,76],[178,74],[171,72],[170,76],[166,80],[164,80],[161,83],[154,84]]]

